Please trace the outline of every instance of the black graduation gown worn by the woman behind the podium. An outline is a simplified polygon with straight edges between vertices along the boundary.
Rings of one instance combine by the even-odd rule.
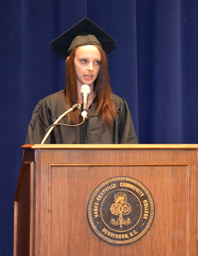
[[[66,111],[64,90],[41,99],[34,109],[25,144],[40,144],[46,129]],[[117,118],[114,126],[101,125],[95,100],[89,106],[88,118],[80,127],[57,125],[45,144],[137,144],[131,114],[124,99],[114,95]],[[76,110],[79,111],[79,110]],[[67,116],[59,123],[67,124]]]

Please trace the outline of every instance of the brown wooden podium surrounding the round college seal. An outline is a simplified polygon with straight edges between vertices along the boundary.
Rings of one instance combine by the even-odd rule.
[[[15,192],[14,256],[196,256],[198,145],[25,145]],[[88,199],[128,176],[152,194],[155,217],[137,242],[93,233]]]

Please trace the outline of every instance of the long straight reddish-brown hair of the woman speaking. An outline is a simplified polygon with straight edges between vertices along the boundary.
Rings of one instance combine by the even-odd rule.
[[[101,54],[101,66],[98,77],[94,82],[97,113],[99,113],[100,120],[103,125],[107,123],[108,125],[112,126],[116,118],[116,108],[114,105],[114,99],[108,74],[107,57],[100,46],[95,45],[95,47],[97,47]],[[67,109],[78,102],[78,86],[76,69],[74,66],[75,50],[76,49],[73,49],[70,53],[70,57],[66,59],[65,99]],[[79,112],[76,110],[75,112],[70,113],[68,115],[68,121],[72,124],[79,123]]]

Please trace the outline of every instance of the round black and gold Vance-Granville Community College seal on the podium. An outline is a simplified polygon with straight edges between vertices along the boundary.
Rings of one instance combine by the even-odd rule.
[[[117,176],[95,188],[87,204],[87,218],[93,232],[113,245],[141,239],[154,220],[154,200],[138,180]]]

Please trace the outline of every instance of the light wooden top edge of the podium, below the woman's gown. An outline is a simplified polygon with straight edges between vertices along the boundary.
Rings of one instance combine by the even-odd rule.
[[[33,150],[197,150],[198,144],[25,144]]]

